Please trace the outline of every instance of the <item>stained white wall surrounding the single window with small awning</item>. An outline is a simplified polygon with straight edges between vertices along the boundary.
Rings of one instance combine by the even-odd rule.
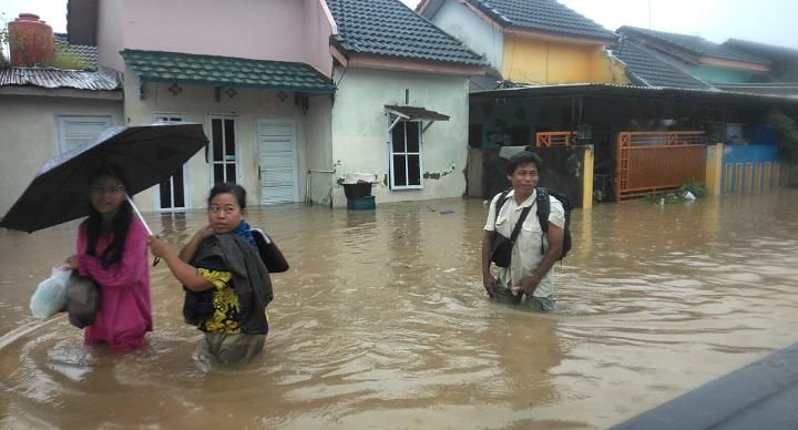
[[[466,191],[468,78],[350,68],[336,71],[332,106],[332,160],[336,177],[370,173],[378,180],[377,203],[459,197]],[[342,76],[341,76],[342,74]],[[406,104],[449,115],[423,135],[422,190],[389,190],[388,119],[385,105]],[[344,188],[334,188],[334,205],[345,206]]]

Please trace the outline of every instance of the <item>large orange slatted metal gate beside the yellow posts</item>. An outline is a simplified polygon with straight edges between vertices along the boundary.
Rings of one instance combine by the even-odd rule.
[[[615,199],[674,191],[687,180],[704,181],[704,132],[621,132],[617,136]]]

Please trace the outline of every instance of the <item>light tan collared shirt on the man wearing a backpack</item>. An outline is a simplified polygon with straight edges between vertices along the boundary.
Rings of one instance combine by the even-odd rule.
[[[544,249],[549,248],[549,242],[543,235],[540,221],[538,219],[538,205],[535,202],[538,198],[538,191],[534,191],[532,195],[521,204],[515,202],[515,198],[513,198],[514,191],[511,191],[508,194],[507,202],[504,202],[502,207],[499,209],[499,216],[497,216],[495,203],[500,195],[501,193],[497,194],[491,201],[490,211],[488,211],[488,222],[485,223],[484,229],[489,232],[498,232],[504,237],[510,237],[512,235],[515,222],[521,216],[523,208],[532,206],[529,215],[526,215],[526,219],[524,219],[524,223],[521,225],[521,232],[515,239],[510,267],[499,267],[499,280],[509,286],[513,293],[518,293],[518,286],[515,284],[524,276],[530,276],[543,259],[543,254],[541,254],[541,242],[543,242]],[[562,204],[552,196],[549,196],[549,202],[551,205],[549,222],[560,228],[563,228],[565,225],[565,212]],[[543,276],[534,291],[535,297],[550,297],[553,295],[554,267],[552,267]]]

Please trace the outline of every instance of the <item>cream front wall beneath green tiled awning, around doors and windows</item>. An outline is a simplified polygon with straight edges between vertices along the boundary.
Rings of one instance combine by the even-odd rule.
[[[248,205],[260,202],[258,183],[258,147],[256,139],[257,121],[262,119],[293,120],[297,129],[297,186],[299,199],[304,198],[305,176],[309,158],[311,165],[321,165],[319,155],[329,153],[330,96],[310,98],[309,110],[303,113],[295,105],[293,92],[280,101],[277,91],[263,89],[235,89],[237,94],[229,98],[222,91],[216,102],[213,86],[177,83],[182,89],[173,95],[168,88],[172,83],[147,82],[144,84],[144,98],[140,99],[135,72],[125,73],[125,115],[129,124],[141,125],[152,122],[154,114],[180,114],[186,122],[203,124],[205,134],[211,137],[209,115],[234,115],[237,121],[237,155],[241,184],[247,190]],[[226,90],[226,89],[224,89]],[[327,150],[325,150],[327,147]],[[309,155],[311,154],[311,155]],[[203,208],[211,188],[209,166],[204,152],[192,157],[186,167],[187,207]],[[155,211],[153,190],[136,197],[142,211]]]

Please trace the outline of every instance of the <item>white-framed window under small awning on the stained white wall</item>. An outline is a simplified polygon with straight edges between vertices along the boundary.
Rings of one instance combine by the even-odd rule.
[[[421,188],[421,123],[399,121],[391,130],[391,188]]]

